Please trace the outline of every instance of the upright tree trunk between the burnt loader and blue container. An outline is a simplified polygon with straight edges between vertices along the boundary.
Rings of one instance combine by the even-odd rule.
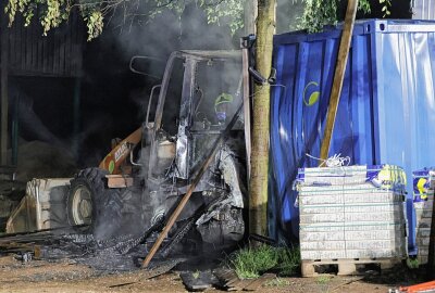
[[[275,7],[276,0],[258,1],[256,63],[264,77],[270,76],[272,68]],[[256,85],[253,89],[249,231],[261,235],[268,233],[270,89],[269,84]]]

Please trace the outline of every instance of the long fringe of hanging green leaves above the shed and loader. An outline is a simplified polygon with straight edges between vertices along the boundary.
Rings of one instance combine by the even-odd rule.
[[[171,11],[181,17],[187,4],[197,3],[207,13],[209,24],[228,24],[234,34],[244,26],[244,3],[246,0],[8,0],[5,13],[9,25],[15,16],[22,14],[25,25],[29,25],[35,15],[44,28],[44,35],[66,21],[73,8],[79,9],[86,22],[88,40],[98,37],[103,29],[104,18],[117,11],[123,22],[142,17],[152,21],[164,11]],[[74,4],[73,4],[74,3]],[[147,11],[144,14],[144,11]]]

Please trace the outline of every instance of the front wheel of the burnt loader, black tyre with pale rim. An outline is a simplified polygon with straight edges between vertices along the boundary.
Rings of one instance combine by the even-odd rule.
[[[107,188],[105,170],[87,168],[71,180],[66,196],[66,215],[71,226],[107,240],[119,233],[123,207],[120,191]]]

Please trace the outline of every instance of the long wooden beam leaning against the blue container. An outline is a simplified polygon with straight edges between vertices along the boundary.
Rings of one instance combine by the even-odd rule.
[[[330,106],[326,116],[326,126],[323,135],[322,146],[320,150],[320,158],[326,160],[330,153],[331,138],[334,132],[335,117],[341,95],[343,80],[345,78],[347,60],[349,56],[350,43],[352,40],[352,31],[355,17],[357,15],[358,0],[349,0],[347,4],[346,18],[343,27],[341,41],[338,50],[337,65],[335,67],[334,84],[331,92]]]

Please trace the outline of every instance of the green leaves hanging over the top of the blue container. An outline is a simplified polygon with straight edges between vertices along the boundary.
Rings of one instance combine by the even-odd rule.
[[[337,7],[339,0],[303,0],[306,10],[301,17],[300,28],[307,29],[308,33],[321,31],[325,25],[337,24]],[[390,14],[389,8],[391,0],[378,0],[383,4],[382,11],[384,17]],[[370,13],[370,1],[360,0],[358,10],[363,13]]]

